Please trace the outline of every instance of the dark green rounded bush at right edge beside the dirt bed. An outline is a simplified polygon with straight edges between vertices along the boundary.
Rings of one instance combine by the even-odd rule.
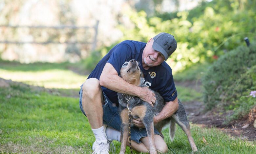
[[[256,43],[250,48],[240,46],[221,56],[205,73],[204,103],[206,109],[220,104],[225,109],[234,109],[248,89],[255,89]]]

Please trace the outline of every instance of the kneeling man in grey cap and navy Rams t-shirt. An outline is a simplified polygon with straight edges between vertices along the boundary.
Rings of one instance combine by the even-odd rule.
[[[160,33],[147,43],[123,41],[99,61],[79,92],[81,111],[87,116],[96,138],[93,144],[94,153],[108,153],[109,141],[120,142],[121,121],[117,112],[117,92],[138,96],[151,105],[156,101],[155,94],[147,87],[131,85],[118,76],[124,62],[131,59],[138,61],[145,78],[144,84],[158,91],[166,102],[160,114],[154,117],[154,124],[170,117],[178,109],[172,69],[164,61],[176,48],[174,36]],[[147,152],[149,141],[144,125],[140,119],[134,119],[133,123],[137,127],[131,128],[132,148]],[[155,141],[159,151],[167,152],[161,132],[156,129]]]

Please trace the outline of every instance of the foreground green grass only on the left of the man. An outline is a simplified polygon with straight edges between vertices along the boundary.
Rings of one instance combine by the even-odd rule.
[[[85,143],[90,143],[93,134],[89,131],[87,119],[80,112],[78,99],[35,92],[15,85],[8,89],[1,88],[0,96],[1,151],[35,150],[45,153],[47,149],[63,149],[65,152],[69,149],[65,147],[83,148],[82,151],[90,149]],[[12,146],[25,151],[11,151]]]

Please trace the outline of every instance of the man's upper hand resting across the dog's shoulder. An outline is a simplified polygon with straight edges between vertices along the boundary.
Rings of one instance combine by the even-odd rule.
[[[157,98],[155,97],[155,93],[151,91],[148,87],[142,87],[141,93],[139,94],[139,98],[142,101],[148,102],[151,106],[156,102]]]

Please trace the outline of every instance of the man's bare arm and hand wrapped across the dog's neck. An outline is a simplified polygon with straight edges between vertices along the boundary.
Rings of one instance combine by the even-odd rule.
[[[116,69],[106,63],[99,78],[99,84],[116,92],[138,96],[145,102],[153,105],[156,101],[155,94],[147,87],[138,87],[124,81],[117,74]]]

